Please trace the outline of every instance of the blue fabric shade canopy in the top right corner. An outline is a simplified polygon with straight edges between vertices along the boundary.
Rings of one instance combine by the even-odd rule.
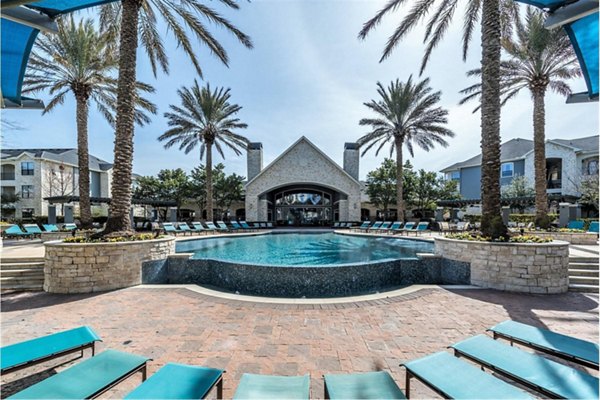
[[[576,93],[567,103],[598,101],[598,0],[516,0],[547,11],[548,29],[562,26],[577,54],[587,93]]]

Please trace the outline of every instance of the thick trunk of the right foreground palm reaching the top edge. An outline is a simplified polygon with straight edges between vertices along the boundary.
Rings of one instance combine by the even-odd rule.
[[[506,234],[500,204],[500,3],[483,0],[481,10],[481,231]]]

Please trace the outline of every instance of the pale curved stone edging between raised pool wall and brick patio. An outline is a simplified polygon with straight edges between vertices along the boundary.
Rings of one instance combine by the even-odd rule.
[[[192,292],[202,294],[209,297],[216,297],[224,300],[234,300],[246,303],[265,303],[265,304],[347,304],[357,303],[365,301],[383,300],[389,298],[395,298],[405,296],[407,294],[416,293],[423,289],[445,289],[445,290],[481,290],[484,288],[473,286],[473,285],[410,285],[400,289],[365,294],[360,296],[347,296],[347,297],[331,297],[331,298],[285,298],[285,297],[261,297],[261,296],[248,296],[242,294],[235,294],[229,292],[221,292],[214,289],[195,284],[159,284],[159,285],[138,285],[134,286],[133,289],[187,289]]]

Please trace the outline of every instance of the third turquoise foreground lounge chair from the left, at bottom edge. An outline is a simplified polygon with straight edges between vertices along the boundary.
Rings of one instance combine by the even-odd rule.
[[[223,370],[168,363],[130,392],[126,399],[204,399],[216,386],[223,398]]]

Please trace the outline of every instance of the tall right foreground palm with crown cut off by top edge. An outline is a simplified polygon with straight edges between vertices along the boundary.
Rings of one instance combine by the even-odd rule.
[[[389,0],[367,21],[359,33],[365,39],[382,19],[406,3],[406,0]],[[500,39],[510,32],[510,21],[517,5],[513,0],[468,0],[463,23],[463,60],[475,26],[481,19],[481,193],[482,232],[494,238],[503,236],[506,227],[502,223],[500,204]],[[394,33],[388,39],[380,61],[386,59],[419,21],[431,15],[426,30],[426,49],[421,63],[424,71],[433,49],[440,43],[454,18],[459,0],[422,0],[413,2]]]

